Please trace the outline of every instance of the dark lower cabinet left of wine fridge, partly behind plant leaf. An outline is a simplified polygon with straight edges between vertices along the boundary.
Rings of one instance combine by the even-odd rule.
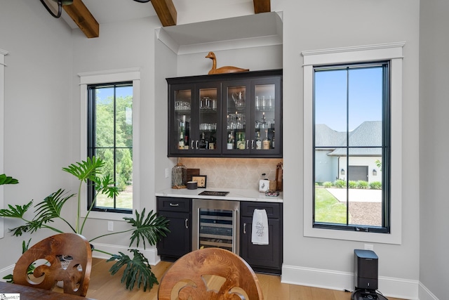
[[[192,251],[192,200],[157,197],[157,212],[169,221],[170,233],[157,243],[157,252],[164,261],[175,261]]]

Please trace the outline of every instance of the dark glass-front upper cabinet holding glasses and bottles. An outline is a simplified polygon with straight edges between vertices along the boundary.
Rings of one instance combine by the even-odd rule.
[[[168,157],[282,157],[282,70],[166,80]]]

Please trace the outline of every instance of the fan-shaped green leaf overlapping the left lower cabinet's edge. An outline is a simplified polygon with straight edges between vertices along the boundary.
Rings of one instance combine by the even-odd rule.
[[[169,221],[165,216],[157,216],[156,213],[150,211],[147,219],[145,219],[145,209],[142,210],[140,215],[138,211],[135,211],[135,219],[133,218],[123,218],[125,221],[135,227],[133,233],[130,237],[130,246],[136,241],[136,247],[139,247],[140,239],[142,238],[143,248],[145,249],[145,241],[149,242],[150,245],[156,244],[161,237],[166,237],[167,233],[170,233],[168,229]],[[144,221],[145,219],[145,221]]]

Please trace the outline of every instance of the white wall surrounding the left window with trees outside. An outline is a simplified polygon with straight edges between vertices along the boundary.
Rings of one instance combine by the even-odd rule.
[[[131,67],[140,68],[140,201],[139,211],[146,208],[147,213],[156,209],[154,202],[155,185],[155,143],[162,136],[166,121],[159,122],[158,115],[166,115],[166,110],[161,113],[157,107],[159,101],[166,101],[166,94],[158,96],[156,91],[163,88],[159,76],[155,75],[154,58],[154,28],[160,26],[159,20],[154,18],[140,18],[126,22],[114,22],[100,26],[100,37],[86,39],[80,30],[74,30],[72,35],[73,64],[72,85],[78,86],[80,72],[96,72],[105,70],[119,70]],[[157,89],[156,89],[157,84]],[[158,103],[156,105],[156,103]],[[79,143],[81,132],[79,124],[80,116],[80,91],[75,89],[72,98],[73,130],[71,143],[74,145],[72,159],[78,161],[81,155]],[[84,233],[89,239],[102,233],[107,233],[107,220],[91,219],[88,221],[89,230]],[[114,230],[129,228],[123,221],[114,222]],[[128,235],[112,235],[101,240],[101,244],[114,244],[127,247]],[[152,247],[150,247],[152,248]],[[149,258],[150,259],[150,258]],[[151,259],[150,259],[151,260]]]

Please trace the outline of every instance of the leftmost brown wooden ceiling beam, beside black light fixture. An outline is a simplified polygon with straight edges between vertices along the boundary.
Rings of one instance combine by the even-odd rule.
[[[81,0],[74,0],[73,4],[62,6],[67,15],[74,20],[86,37],[100,37],[100,25],[93,18],[92,13]]]

